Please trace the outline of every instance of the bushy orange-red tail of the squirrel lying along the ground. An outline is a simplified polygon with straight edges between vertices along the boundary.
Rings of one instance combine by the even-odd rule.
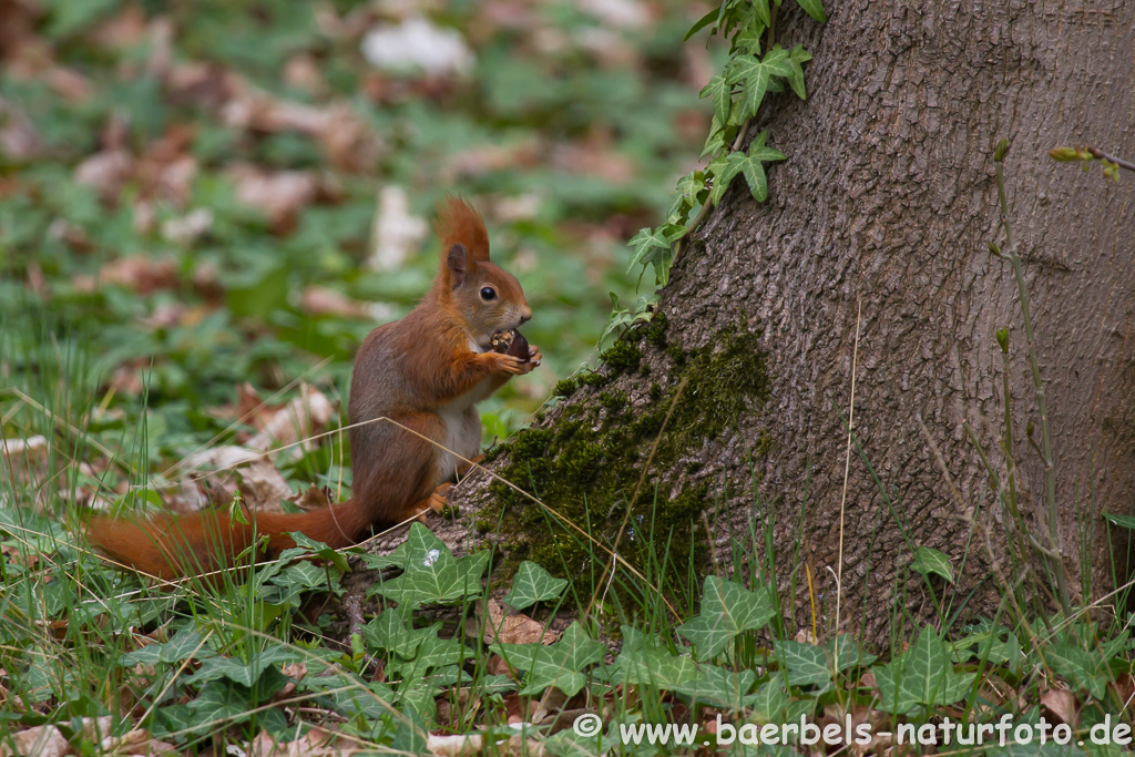
[[[354,499],[308,513],[249,513],[239,523],[228,513],[202,511],[150,521],[96,516],[87,521],[92,545],[117,563],[173,580],[232,567],[234,560],[255,539],[268,537],[267,550],[257,558],[275,557],[295,546],[289,532],[340,548],[355,542],[370,525]]]

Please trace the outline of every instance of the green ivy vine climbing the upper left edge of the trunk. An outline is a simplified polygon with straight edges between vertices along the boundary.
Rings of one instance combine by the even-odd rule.
[[[768,197],[765,163],[784,160],[779,150],[767,145],[762,132],[741,150],[749,125],[770,92],[783,92],[785,85],[801,100],[807,96],[804,64],[812,54],[797,44],[791,50],[776,42],[776,15],[782,0],[723,0],[690,28],[686,39],[708,27],[709,35],[721,34],[730,41],[730,58],[724,69],[701,90],[703,98],[713,102],[713,121],[701,158],[709,158],[704,169],[695,169],[678,182],[678,197],[657,228],[644,228],[630,241],[634,250],[631,270],[641,266],[654,268],[659,286],[670,280],[670,269],[681,252],[682,242],[721,202],[733,179],[743,176],[757,202]],[[796,0],[817,22],[826,20],[821,0]],[[608,333],[617,326],[649,318],[647,298],[639,301],[636,312],[614,313]]]

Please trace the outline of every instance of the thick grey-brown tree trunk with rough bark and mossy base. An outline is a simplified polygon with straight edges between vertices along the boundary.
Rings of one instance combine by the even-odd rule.
[[[829,5],[822,26],[783,8],[779,39],[815,58],[808,100],[774,96],[748,137],[768,129],[788,155],[770,171],[768,201],[737,182],[675,262],[659,317],[597,375],[562,387],[570,396],[491,468],[608,545],[630,503],[619,550],[644,573],[651,554],[683,575],[691,562],[731,572],[740,542],[751,569],[773,523],[780,588],[806,562],[827,629],[842,549],[840,623],[878,641],[897,607],[933,615],[909,570],[916,546],[952,558],[957,583],[931,580],[939,597],[957,607],[976,589],[966,614],[997,607],[1009,515],[964,424],[1003,478],[1002,327],[1017,486],[1044,533],[1020,303],[1010,266],[987,250],[1003,244],[992,160],[1002,137],[1059,546],[1074,591],[1082,560],[1094,580],[1110,577],[1100,513],[1130,512],[1135,495],[1135,179],[1082,174],[1046,151],[1135,155],[1135,3]],[[848,459],[852,378],[863,456],[852,446]],[[442,527],[451,538],[488,535],[510,560],[577,580],[602,570],[583,537],[485,474],[453,498],[465,520]],[[699,548],[711,539],[713,555]],[[663,592],[679,597],[682,580]],[[804,570],[796,586],[796,622],[810,628]]]

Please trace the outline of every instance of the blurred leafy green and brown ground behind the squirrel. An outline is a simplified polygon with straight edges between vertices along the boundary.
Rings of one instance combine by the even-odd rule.
[[[359,342],[429,286],[446,192],[536,313],[545,365],[485,405],[507,435],[594,360],[608,293],[648,293],[625,241],[707,133],[724,51],[682,35],[708,7],[0,0],[5,437],[52,380],[150,464],[228,428],[246,382],[345,412]]]

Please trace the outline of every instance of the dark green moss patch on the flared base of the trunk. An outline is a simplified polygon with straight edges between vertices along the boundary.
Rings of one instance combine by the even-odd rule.
[[[664,323],[654,335],[639,330],[638,338],[655,344],[665,336]],[[621,556],[644,572],[645,566],[654,565],[653,574],[657,575],[657,562],[669,542],[667,570],[675,572],[673,580],[684,586],[690,561],[699,570],[708,567],[708,549],[697,529],[700,513],[709,503],[706,482],[681,482],[678,461],[700,451],[707,439],[728,428],[735,429],[742,414],[766,401],[768,378],[759,336],[743,329],[723,331],[705,347],[682,353],[680,367],[671,371],[669,382],[651,382],[646,394],[653,402],[633,413],[630,397],[619,389],[606,389],[590,402],[564,406],[547,428],[528,429],[513,437],[501,476],[532,493],[550,511],[602,544],[614,540],[630,505]],[[604,353],[604,361],[612,368],[617,364],[619,370],[636,370],[641,361],[639,347],[625,337],[616,344],[623,346],[617,347],[614,361],[611,351]],[[602,387],[613,378],[602,377],[600,381],[590,378],[594,376],[598,375],[581,376],[579,385],[594,381]],[[673,411],[665,423],[671,405]],[[631,503],[655,440],[657,448],[645,486]],[[698,470],[698,462],[684,468],[687,474]],[[493,499],[482,513],[482,522],[493,529],[499,524],[502,544],[508,547],[506,570],[498,579],[507,580],[510,569],[532,560],[556,575],[575,580],[579,596],[589,597],[594,589],[589,582],[602,572],[606,553],[511,487],[498,481],[491,485],[490,493]]]

